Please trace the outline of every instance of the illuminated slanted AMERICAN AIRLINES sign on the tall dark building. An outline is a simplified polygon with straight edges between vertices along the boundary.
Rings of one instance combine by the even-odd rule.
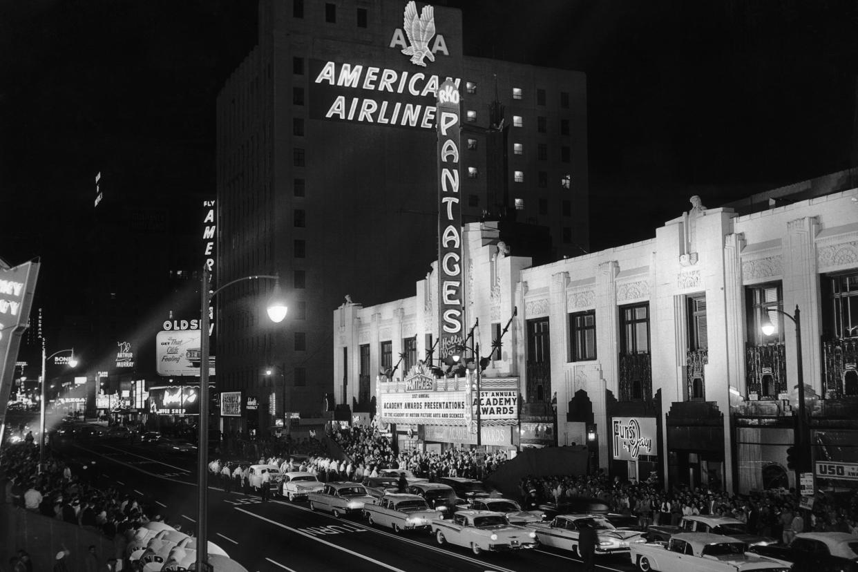
[[[311,73],[312,118],[435,129],[438,75],[318,60],[311,60]],[[355,89],[361,93],[344,92]]]

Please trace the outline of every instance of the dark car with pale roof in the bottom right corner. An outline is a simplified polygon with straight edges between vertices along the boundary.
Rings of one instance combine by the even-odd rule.
[[[849,533],[798,533],[787,546],[757,545],[748,551],[791,562],[794,572],[858,571],[858,536]]]

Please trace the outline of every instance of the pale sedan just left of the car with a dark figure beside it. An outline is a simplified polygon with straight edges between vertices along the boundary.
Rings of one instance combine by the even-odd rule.
[[[460,510],[453,518],[432,519],[432,533],[439,545],[449,542],[482,551],[515,551],[535,548],[536,533],[511,525],[504,513],[490,510]]]

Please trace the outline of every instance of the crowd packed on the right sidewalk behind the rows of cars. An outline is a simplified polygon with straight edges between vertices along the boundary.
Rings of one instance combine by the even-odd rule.
[[[685,515],[730,516],[745,522],[749,533],[784,543],[801,532],[843,532],[858,534],[858,493],[849,497],[818,494],[813,509],[802,509],[795,491],[765,491],[751,495],[733,495],[700,488],[696,491],[663,491],[655,478],[632,483],[597,476],[528,476],[519,490],[529,503],[573,502],[575,498],[595,498],[610,510],[637,515],[641,527],[677,525]]]

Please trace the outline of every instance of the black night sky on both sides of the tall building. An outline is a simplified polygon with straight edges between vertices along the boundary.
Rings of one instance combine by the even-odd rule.
[[[447,4],[467,55],[587,73],[591,250],[654,236],[692,195],[855,163],[858,3]],[[215,97],[256,19],[252,0],[0,0],[0,257],[42,257],[36,305],[93,263],[96,172],[121,196],[214,193]]]

